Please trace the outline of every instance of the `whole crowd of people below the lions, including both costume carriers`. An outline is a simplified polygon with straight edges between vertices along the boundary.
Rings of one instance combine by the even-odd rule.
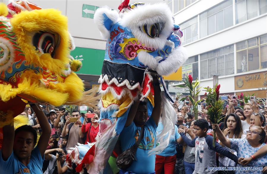
[[[160,119],[159,85],[154,85],[154,90],[155,105],[150,117],[146,102],[136,101],[131,106],[119,138],[120,151],[132,147],[140,135],[143,134],[143,137],[136,150],[136,160],[117,173],[267,173],[267,106],[246,103],[241,107],[230,96],[223,111],[224,118],[218,124],[209,120],[204,100],[199,103],[201,110],[198,110],[197,120],[190,109],[192,103],[185,100],[181,104],[176,100],[173,107],[177,121],[171,131],[169,145],[162,152],[149,154],[149,150],[157,146],[156,135],[164,129]],[[75,173],[75,165],[70,169],[66,164],[68,150],[77,143],[96,142],[99,110],[77,106],[69,112],[63,107],[42,108],[32,104],[21,115],[28,118],[29,125],[15,131],[12,125],[3,127],[0,166],[5,166],[6,173],[27,173],[30,170],[44,174]],[[214,145],[213,136],[217,137]],[[262,169],[209,170],[211,166]]]

